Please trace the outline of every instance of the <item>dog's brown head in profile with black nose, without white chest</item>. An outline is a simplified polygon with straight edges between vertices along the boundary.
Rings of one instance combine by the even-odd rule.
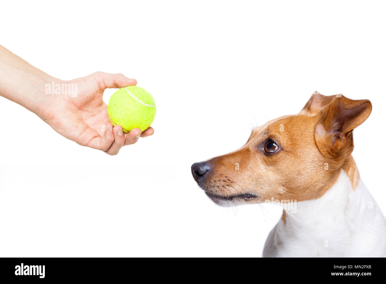
[[[215,203],[304,201],[322,196],[339,176],[359,179],[352,130],[371,113],[369,100],[315,92],[296,115],[252,130],[239,150],[191,166],[193,178]]]

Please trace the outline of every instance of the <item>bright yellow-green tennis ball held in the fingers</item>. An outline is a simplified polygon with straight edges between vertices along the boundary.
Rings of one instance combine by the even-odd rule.
[[[122,126],[125,133],[134,128],[144,131],[156,116],[156,104],[144,88],[129,86],[120,88],[111,96],[107,113],[111,123]]]

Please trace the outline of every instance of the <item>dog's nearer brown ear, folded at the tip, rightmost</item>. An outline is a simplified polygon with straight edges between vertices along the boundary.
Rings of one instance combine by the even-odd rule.
[[[315,141],[319,150],[330,158],[348,156],[353,148],[352,130],[371,113],[369,100],[350,100],[336,95],[316,115]]]

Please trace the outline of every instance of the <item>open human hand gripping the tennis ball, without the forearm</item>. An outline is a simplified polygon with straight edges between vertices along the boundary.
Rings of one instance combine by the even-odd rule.
[[[70,81],[54,82],[58,83],[74,84],[72,86],[75,86],[76,96],[69,92],[45,94],[45,103],[39,108],[37,115],[62,136],[82,146],[116,155],[122,146],[134,144],[139,137],[154,133],[152,127],[142,133],[139,128],[124,133],[122,126],[113,127],[108,118],[107,104],[102,100],[105,89],[133,86],[137,84],[135,79],[122,74],[95,72]]]

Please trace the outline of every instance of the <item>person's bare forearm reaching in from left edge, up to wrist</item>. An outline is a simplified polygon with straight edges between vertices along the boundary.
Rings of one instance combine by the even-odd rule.
[[[57,80],[0,46],[0,95],[39,113],[46,107],[45,85]]]

